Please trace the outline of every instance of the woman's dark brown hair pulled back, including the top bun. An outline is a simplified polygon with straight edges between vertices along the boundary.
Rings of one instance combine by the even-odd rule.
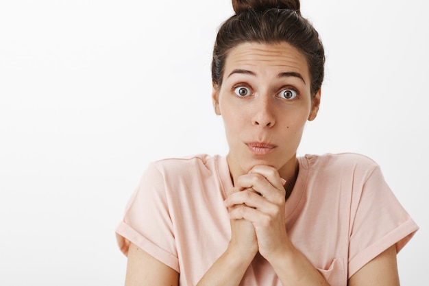
[[[232,0],[236,14],[221,25],[212,60],[212,82],[222,84],[225,60],[241,43],[289,43],[306,57],[311,78],[311,94],[323,82],[325,53],[319,34],[301,16],[299,0]]]

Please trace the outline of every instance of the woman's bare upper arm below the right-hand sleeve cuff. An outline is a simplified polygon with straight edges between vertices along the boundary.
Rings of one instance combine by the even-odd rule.
[[[365,264],[349,279],[348,286],[399,286],[396,248],[391,246]]]

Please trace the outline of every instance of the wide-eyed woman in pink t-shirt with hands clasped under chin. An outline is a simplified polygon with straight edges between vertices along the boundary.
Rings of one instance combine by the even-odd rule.
[[[297,158],[324,52],[299,1],[232,1],[212,99],[228,156],[152,163],[117,228],[126,285],[399,285],[418,227],[358,154]]]

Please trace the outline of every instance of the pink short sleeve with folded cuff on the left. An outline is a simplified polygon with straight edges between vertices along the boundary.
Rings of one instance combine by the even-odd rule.
[[[180,272],[164,176],[154,163],[147,167],[130,198],[116,235],[119,248],[125,255],[132,242]]]

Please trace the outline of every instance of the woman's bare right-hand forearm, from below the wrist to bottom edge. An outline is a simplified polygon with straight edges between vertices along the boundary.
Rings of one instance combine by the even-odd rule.
[[[325,278],[304,254],[294,247],[270,263],[283,286],[329,286]]]

